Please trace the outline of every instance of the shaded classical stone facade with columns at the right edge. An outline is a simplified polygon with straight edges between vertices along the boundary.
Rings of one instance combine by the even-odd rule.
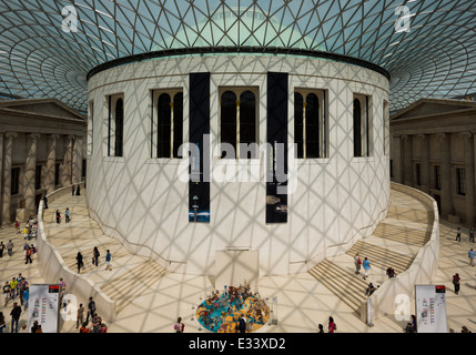
[[[476,102],[421,99],[391,115],[391,180],[432,195],[443,219],[474,225]]]

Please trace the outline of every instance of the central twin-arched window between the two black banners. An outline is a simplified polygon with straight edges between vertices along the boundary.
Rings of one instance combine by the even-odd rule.
[[[220,89],[222,159],[257,158],[257,89]]]

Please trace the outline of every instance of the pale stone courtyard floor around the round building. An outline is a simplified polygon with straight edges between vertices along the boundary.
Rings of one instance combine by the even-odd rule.
[[[104,235],[97,223],[88,217],[85,207],[85,191],[82,196],[62,196],[50,204],[44,217],[47,234],[50,233],[51,242],[60,251],[68,264],[71,264],[72,255],[79,250],[84,250],[87,267],[82,274],[93,278],[99,285],[105,287],[112,280],[124,276],[134,267],[150,263],[144,257],[129,254],[115,240]],[[405,203],[412,203],[407,201]],[[72,214],[70,224],[55,225],[53,211],[61,211],[69,206]],[[51,212],[51,213],[50,213]],[[459,332],[462,326],[467,326],[476,332],[476,277],[475,268],[468,263],[467,252],[473,243],[468,242],[467,229],[463,227],[462,242],[455,241],[457,225],[443,221],[440,223],[440,258],[439,271],[435,284],[447,286],[447,323],[448,328]],[[48,232],[49,231],[49,232]],[[42,283],[43,280],[33,264],[24,265],[21,253],[24,243],[21,234],[17,234],[12,226],[0,229],[0,241],[6,244],[8,240],[14,243],[14,254],[0,258],[0,281],[2,284],[22,273],[30,284]],[[34,240],[31,241],[34,243]],[[100,267],[89,265],[89,251],[94,245],[102,245]],[[105,247],[110,247],[113,254],[113,271],[104,270],[103,255]],[[4,253],[6,254],[6,253]],[[115,255],[115,256],[114,256]],[[73,265],[71,271],[75,272]],[[453,292],[452,275],[456,272],[462,277],[462,290],[459,295]],[[144,271],[145,278],[150,280],[156,271]],[[124,285],[123,290],[126,290]],[[200,326],[195,318],[196,306],[204,300],[205,295],[213,290],[212,280],[206,276],[183,275],[175,273],[163,273],[160,277],[143,285],[133,297],[120,310],[114,323],[108,324],[109,332],[115,333],[173,333],[173,324],[181,316],[185,324],[185,332],[207,333]],[[125,293],[125,291],[124,291]],[[333,316],[338,332],[345,333],[402,333],[406,321],[397,321],[394,315],[374,321],[369,327],[362,323],[354,312],[342,301],[336,298],[327,288],[321,285],[308,273],[292,276],[264,276],[260,280],[260,294],[272,300],[275,297],[276,307],[273,308],[277,324],[266,324],[259,333],[314,333],[321,323],[327,324],[328,316]],[[79,300],[85,303],[85,300]],[[271,303],[271,301],[270,301]],[[412,304],[411,310],[414,310]],[[7,328],[10,325],[11,302],[3,307]],[[99,310],[100,313],[100,310]],[[26,313],[21,322],[26,321]],[[20,323],[21,323],[20,322]],[[61,332],[75,333],[74,323],[69,321],[62,325]]]

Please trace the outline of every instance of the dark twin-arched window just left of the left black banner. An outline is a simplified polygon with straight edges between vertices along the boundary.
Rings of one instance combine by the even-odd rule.
[[[182,158],[183,92],[182,89],[158,90],[152,93],[152,158]]]

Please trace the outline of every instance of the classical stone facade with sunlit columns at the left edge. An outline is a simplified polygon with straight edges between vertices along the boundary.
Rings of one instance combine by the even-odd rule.
[[[55,99],[0,102],[0,224],[37,213],[39,200],[84,180],[87,118]]]

